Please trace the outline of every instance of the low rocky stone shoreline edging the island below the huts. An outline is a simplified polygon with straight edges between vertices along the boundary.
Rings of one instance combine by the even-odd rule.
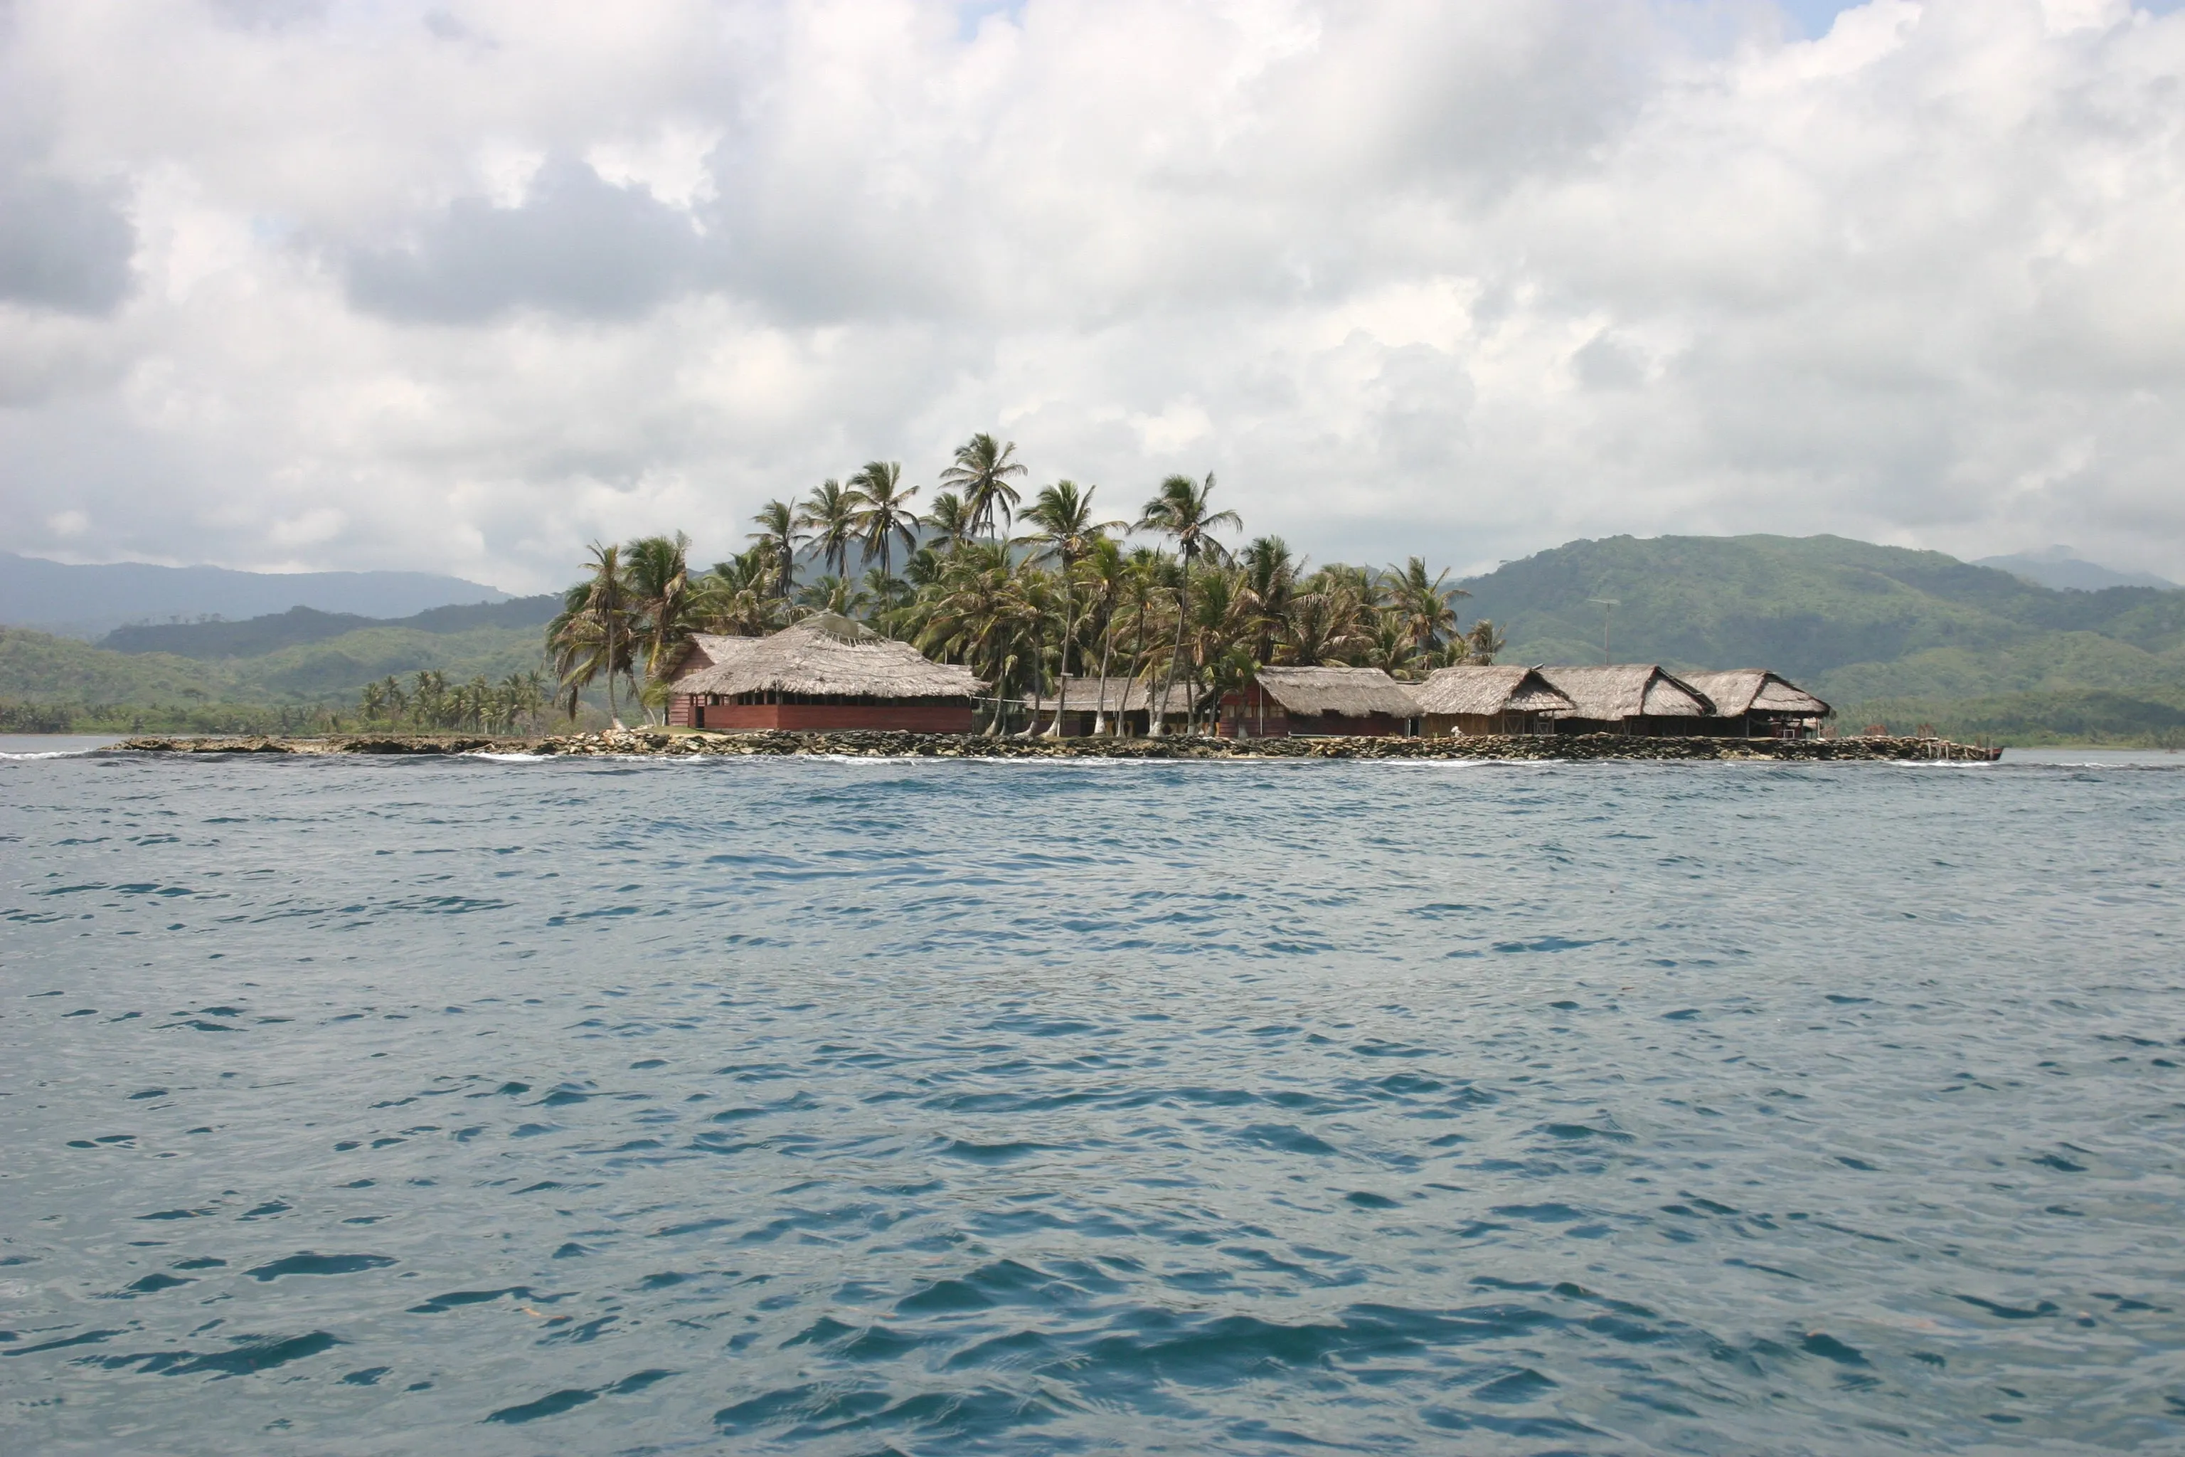
[[[531,754],[542,758],[1453,758],[1453,760],[1785,760],[1785,762],[1993,762],[2001,749],[1947,738],[1628,738],[1621,734],[1477,734],[1464,738],[983,738],[977,734],[706,734],[688,730],[605,730],[503,738],[461,734],[260,734],[125,738],[135,754]]]

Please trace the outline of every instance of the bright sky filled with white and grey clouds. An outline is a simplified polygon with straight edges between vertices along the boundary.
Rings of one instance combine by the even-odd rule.
[[[0,542],[546,590],[992,430],[2185,579],[2181,258],[2174,2],[0,0]]]

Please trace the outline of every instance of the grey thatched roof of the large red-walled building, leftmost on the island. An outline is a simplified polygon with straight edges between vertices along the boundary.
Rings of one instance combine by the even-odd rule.
[[[675,692],[800,692],[837,699],[968,699],[970,668],[933,662],[909,642],[822,612],[771,638],[701,633],[675,671]]]

